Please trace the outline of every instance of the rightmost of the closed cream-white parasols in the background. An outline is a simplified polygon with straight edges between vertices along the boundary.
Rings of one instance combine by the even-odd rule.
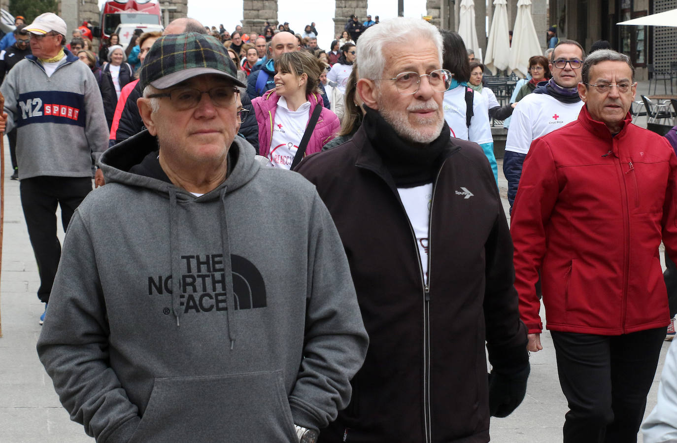
[[[516,75],[526,77],[529,57],[539,55],[542,55],[542,50],[531,20],[531,0],[519,0],[515,26],[512,28],[512,47],[508,66]]]

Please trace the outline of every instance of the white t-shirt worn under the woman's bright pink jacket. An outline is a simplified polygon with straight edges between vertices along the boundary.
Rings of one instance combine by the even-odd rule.
[[[273,167],[291,169],[294,155],[299,150],[309,120],[310,102],[305,102],[297,110],[292,111],[289,110],[286,99],[280,97],[275,110],[273,137],[268,153],[268,160]]]

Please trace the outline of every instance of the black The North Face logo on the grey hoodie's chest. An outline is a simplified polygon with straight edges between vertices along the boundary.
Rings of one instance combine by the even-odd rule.
[[[265,308],[266,293],[263,276],[254,264],[240,255],[231,255],[234,305],[236,310]],[[181,255],[179,295],[183,313],[226,311],[225,267],[223,254]],[[172,277],[148,277],[148,295],[172,293]],[[171,309],[162,311],[169,315]]]

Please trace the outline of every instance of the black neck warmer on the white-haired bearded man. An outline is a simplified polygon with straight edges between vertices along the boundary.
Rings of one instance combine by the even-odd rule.
[[[383,164],[395,179],[397,188],[413,188],[435,180],[449,146],[450,132],[445,122],[442,131],[427,146],[403,140],[376,110],[364,105],[362,126]]]

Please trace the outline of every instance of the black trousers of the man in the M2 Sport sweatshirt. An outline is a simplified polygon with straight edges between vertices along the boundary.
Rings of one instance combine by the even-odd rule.
[[[47,303],[61,258],[61,243],[56,236],[56,207],[61,206],[65,231],[73,212],[91,191],[91,178],[41,175],[21,180],[19,188],[30,245],[40,274],[38,298]]]

